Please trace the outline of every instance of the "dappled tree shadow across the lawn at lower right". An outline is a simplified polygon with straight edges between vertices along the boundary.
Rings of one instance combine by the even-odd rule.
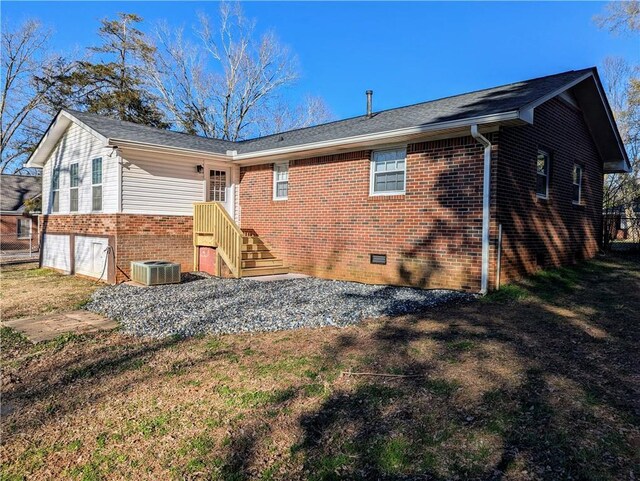
[[[639,264],[615,262],[540,273],[493,298],[508,305],[464,305],[430,322],[392,319],[362,346],[362,339],[337,337],[326,348],[336,365],[361,347],[366,356],[354,371],[393,375],[346,377],[299,417],[302,435],[291,448],[292,463],[303,465],[299,477],[633,479]],[[620,302],[618,282],[636,294],[612,307],[613,296]],[[518,302],[524,297],[531,302]],[[577,306],[572,316],[586,312],[582,321],[597,324],[606,339],[545,308],[556,302]],[[254,459],[234,462],[238,479],[255,474]]]

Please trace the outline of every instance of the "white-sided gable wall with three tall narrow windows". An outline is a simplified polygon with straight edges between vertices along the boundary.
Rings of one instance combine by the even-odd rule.
[[[84,127],[71,124],[51,152],[42,169],[42,213],[68,214],[71,212],[70,165],[78,164],[78,214],[92,212],[92,159],[102,157],[102,211],[114,213],[118,209],[118,157],[109,156],[111,148]],[[53,211],[52,172],[59,169],[60,189],[58,212]],[[75,194],[74,194],[75,195]],[[75,213],[75,212],[74,212]]]

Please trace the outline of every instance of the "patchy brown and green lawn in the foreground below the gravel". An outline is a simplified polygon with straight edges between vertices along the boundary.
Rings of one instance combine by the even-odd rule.
[[[628,258],[347,329],[4,331],[2,479],[635,480],[639,334]]]

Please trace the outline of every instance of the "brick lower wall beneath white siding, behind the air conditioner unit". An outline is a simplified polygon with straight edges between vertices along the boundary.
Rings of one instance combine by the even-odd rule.
[[[135,214],[78,214],[40,217],[44,233],[113,236],[115,280],[127,280],[134,260],[178,262],[183,272],[193,269],[193,219],[189,216]]]

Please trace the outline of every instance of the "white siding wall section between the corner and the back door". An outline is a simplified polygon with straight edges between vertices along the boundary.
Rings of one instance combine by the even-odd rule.
[[[122,160],[122,212],[192,215],[193,203],[205,200],[207,188],[197,163],[176,157],[127,156]]]

